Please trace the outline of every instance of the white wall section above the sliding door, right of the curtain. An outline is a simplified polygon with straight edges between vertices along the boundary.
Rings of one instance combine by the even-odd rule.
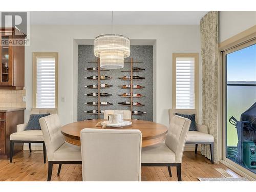
[[[222,42],[256,25],[256,11],[220,11],[219,41]]]

